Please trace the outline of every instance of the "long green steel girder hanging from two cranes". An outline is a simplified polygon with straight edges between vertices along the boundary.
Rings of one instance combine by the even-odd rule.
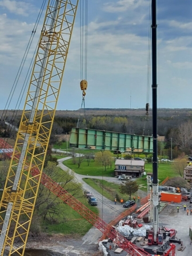
[[[153,137],[74,127],[70,147],[153,153]]]

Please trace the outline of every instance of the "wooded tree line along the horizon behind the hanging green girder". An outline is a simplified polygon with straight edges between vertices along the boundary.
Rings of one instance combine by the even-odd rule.
[[[143,109],[86,109],[86,111],[86,119],[84,115],[79,116],[79,111],[58,111],[54,118],[50,144],[57,142],[56,134],[69,134],[71,128],[77,126],[78,119],[78,127],[86,127],[87,129],[139,135],[151,135],[153,133],[152,117],[150,115],[149,118],[146,117]],[[105,113],[105,115],[102,113]],[[110,115],[106,113],[110,113]],[[9,115],[5,119],[16,127],[20,123],[20,116],[15,118],[14,121]],[[178,157],[180,151],[191,154],[191,123],[192,112],[190,109],[158,109],[157,132],[158,135],[165,135],[163,146],[161,142],[158,145],[159,154],[161,150],[162,155],[168,155],[170,158],[171,151],[173,158]],[[6,125],[4,121],[0,122],[1,137],[15,138],[16,134],[15,130],[11,129],[9,125]]]

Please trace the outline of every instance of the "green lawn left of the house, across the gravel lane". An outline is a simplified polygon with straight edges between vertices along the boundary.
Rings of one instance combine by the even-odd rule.
[[[78,157],[76,159],[78,161]],[[67,167],[72,169],[74,172],[82,175],[93,175],[93,176],[108,176],[114,177],[114,168],[115,165],[110,168],[107,168],[105,171],[105,167],[98,165],[93,160],[90,161],[90,165],[87,165],[86,159],[81,163],[81,166],[78,168],[77,164],[73,164],[73,159],[68,159],[67,161],[63,162]]]

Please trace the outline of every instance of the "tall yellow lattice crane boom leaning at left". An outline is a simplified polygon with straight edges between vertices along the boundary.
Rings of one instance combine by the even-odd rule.
[[[78,0],[49,1],[1,199],[0,252],[23,255],[49,144]],[[41,150],[37,150],[41,148]],[[41,153],[39,153],[41,152]],[[19,161],[15,161],[18,159]],[[38,169],[35,176],[30,169]]]

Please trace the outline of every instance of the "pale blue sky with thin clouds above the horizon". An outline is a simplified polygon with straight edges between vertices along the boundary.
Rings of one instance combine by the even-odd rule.
[[[0,0],[0,109],[5,107],[42,3]],[[131,93],[131,107],[144,108],[149,0],[89,0],[88,5],[85,107],[129,108]],[[157,7],[158,107],[192,108],[192,1],[157,0]],[[28,64],[41,29],[39,25]],[[81,107],[80,71],[78,8],[57,109]],[[20,88],[21,84],[10,105],[12,109]],[[149,102],[151,106],[151,89]]]

